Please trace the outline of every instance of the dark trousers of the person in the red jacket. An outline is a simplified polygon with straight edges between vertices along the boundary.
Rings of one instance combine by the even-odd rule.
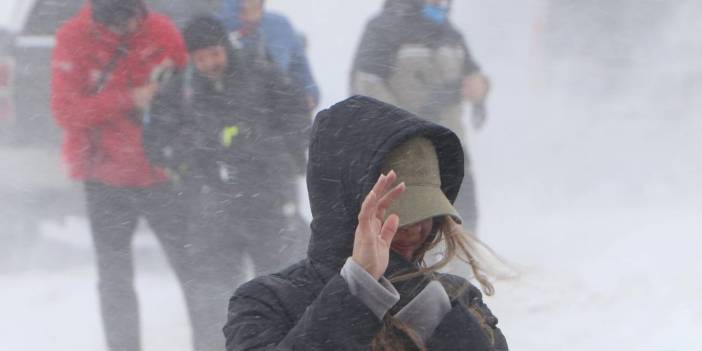
[[[134,289],[132,238],[143,217],[156,234],[184,288],[189,281],[184,202],[170,185],[149,188],[85,183],[88,216],[98,268],[98,291],[108,349],[141,349],[139,311]]]

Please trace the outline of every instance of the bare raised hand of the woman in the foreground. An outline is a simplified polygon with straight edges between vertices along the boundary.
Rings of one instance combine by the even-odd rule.
[[[358,214],[352,258],[375,279],[380,279],[388,267],[390,243],[400,222],[396,214],[385,218],[387,208],[405,191],[405,183],[392,186],[396,180],[394,171],[381,175]]]

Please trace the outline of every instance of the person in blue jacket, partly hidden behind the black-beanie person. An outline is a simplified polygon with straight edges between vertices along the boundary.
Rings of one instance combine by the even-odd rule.
[[[235,47],[253,49],[304,89],[308,107],[319,103],[319,87],[305,53],[305,38],[295,32],[283,15],[266,11],[264,0],[224,0],[220,19],[229,30]]]

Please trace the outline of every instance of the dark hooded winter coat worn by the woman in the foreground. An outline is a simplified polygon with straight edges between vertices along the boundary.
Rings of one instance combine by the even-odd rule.
[[[227,350],[369,349],[382,322],[351,294],[339,271],[352,253],[360,204],[380,175],[382,160],[415,136],[433,141],[442,190],[453,201],[463,177],[463,153],[448,129],[366,97],[352,97],[317,115],[307,168],[313,214],[308,257],[237,290],[224,327]],[[392,267],[407,265],[393,254],[386,276],[397,271]],[[462,293],[452,296],[453,308],[428,349],[506,350],[479,290],[452,275],[441,274],[439,281],[449,296]],[[401,295],[407,291],[397,288]]]

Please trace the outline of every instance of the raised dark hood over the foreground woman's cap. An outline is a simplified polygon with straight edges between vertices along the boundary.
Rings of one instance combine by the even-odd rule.
[[[340,269],[351,256],[361,202],[380,176],[385,156],[415,136],[433,142],[442,190],[453,202],[463,179],[463,150],[449,129],[364,96],[317,114],[307,166],[312,261]]]

